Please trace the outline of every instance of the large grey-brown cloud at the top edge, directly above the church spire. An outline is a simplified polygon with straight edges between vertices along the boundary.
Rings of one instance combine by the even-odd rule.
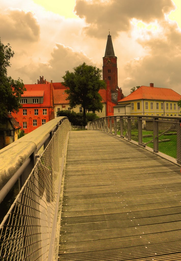
[[[150,22],[163,19],[164,13],[174,9],[171,0],[77,0],[75,11],[80,18],[85,18],[89,26],[85,27],[88,35],[97,38],[105,36],[108,28],[117,34],[130,29],[132,18]]]

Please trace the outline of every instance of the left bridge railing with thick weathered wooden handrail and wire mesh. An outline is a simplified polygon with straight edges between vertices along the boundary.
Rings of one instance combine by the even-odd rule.
[[[1,199],[18,178],[21,184],[20,193],[0,224],[3,261],[48,260],[53,254],[52,228],[56,226],[70,123],[66,117],[58,117],[46,124],[1,152],[2,159],[7,160],[2,165],[4,177],[9,166],[9,179],[0,183]],[[39,154],[42,146],[44,151]]]

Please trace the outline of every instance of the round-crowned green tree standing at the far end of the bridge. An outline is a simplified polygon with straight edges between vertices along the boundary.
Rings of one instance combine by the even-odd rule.
[[[75,108],[78,104],[83,107],[83,124],[86,125],[86,109],[95,111],[103,108],[98,91],[106,88],[106,83],[101,80],[102,70],[95,66],[83,62],[73,69],[74,72],[66,71],[62,84],[69,87],[65,92],[68,94],[70,107]]]

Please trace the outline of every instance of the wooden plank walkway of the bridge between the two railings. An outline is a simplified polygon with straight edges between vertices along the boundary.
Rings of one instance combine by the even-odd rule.
[[[114,135],[70,132],[59,258],[181,260],[180,167]]]

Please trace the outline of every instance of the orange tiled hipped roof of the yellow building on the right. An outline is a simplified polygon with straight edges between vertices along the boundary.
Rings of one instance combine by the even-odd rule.
[[[178,101],[181,99],[181,95],[168,88],[141,86],[118,102],[127,102],[140,99]]]

